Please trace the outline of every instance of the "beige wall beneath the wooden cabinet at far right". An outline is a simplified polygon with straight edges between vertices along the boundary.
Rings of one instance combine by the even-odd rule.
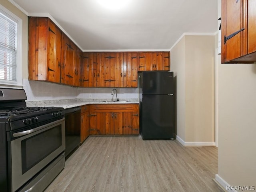
[[[256,64],[219,64],[218,176],[256,186]]]

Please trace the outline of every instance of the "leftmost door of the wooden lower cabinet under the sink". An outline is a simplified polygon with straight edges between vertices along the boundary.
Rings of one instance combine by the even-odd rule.
[[[90,135],[105,135],[105,112],[90,113]]]

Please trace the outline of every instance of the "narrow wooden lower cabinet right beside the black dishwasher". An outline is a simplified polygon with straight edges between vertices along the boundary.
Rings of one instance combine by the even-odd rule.
[[[88,138],[90,134],[90,111],[89,105],[81,107],[81,143]]]

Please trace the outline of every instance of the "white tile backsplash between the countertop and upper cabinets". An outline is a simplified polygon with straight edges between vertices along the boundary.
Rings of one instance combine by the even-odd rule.
[[[113,88],[75,88],[60,84],[23,79],[26,101],[60,100],[60,99],[112,99]],[[137,99],[137,88],[116,88],[118,97],[122,99]]]

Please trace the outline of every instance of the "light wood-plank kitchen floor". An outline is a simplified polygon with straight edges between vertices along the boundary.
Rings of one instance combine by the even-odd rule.
[[[215,147],[174,140],[91,136],[45,192],[222,192]]]

